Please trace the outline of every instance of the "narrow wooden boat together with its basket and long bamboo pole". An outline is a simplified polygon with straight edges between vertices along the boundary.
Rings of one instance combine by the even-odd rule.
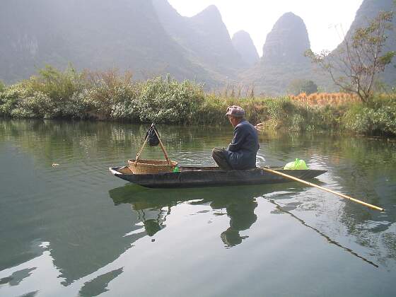
[[[161,146],[165,161],[161,160],[140,160],[139,157],[146,143],[150,146]],[[297,161],[297,159],[296,159]],[[361,200],[349,197],[345,194],[315,185],[306,180],[317,177],[327,170],[284,170],[283,168],[255,168],[250,170],[221,170],[219,167],[192,167],[177,166],[177,162],[170,161],[165,146],[156,130],[151,124],[146,133],[144,144],[136,154],[134,160],[128,161],[128,166],[110,167],[110,172],[120,177],[122,180],[133,182],[143,187],[156,188],[177,188],[177,187],[214,187],[214,186],[235,186],[235,185],[264,185],[295,180],[310,187],[336,194],[339,197],[349,199],[356,203],[368,206],[371,209],[385,211],[385,209],[368,204]],[[286,167],[285,167],[286,168]],[[306,165],[305,165],[306,168]]]

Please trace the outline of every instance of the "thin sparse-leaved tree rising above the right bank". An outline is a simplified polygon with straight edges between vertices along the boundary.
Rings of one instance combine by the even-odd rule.
[[[357,28],[336,51],[305,52],[315,64],[327,71],[336,86],[356,93],[364,102],[372,98],[378,74],[392,62],[395,52],[385,51],[392,30],[392,11],[381,11],[366,27]]]

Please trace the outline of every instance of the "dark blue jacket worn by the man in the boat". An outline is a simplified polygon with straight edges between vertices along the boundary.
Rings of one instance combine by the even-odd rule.
[[[234,129],[233,141],[223,152],[234,170],[245,170],[256,167],[259,148],[257,130],[250,122],[242,120]]]

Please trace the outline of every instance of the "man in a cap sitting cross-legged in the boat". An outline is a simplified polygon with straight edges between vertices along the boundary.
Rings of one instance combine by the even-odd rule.
[[[222,170],[248,170],[256,167],[259,139],[255,127],[245,120],[245,110],[233,105],[226,116],[234,127],[234,138],[228,149],[214,148],[212,156]]]

